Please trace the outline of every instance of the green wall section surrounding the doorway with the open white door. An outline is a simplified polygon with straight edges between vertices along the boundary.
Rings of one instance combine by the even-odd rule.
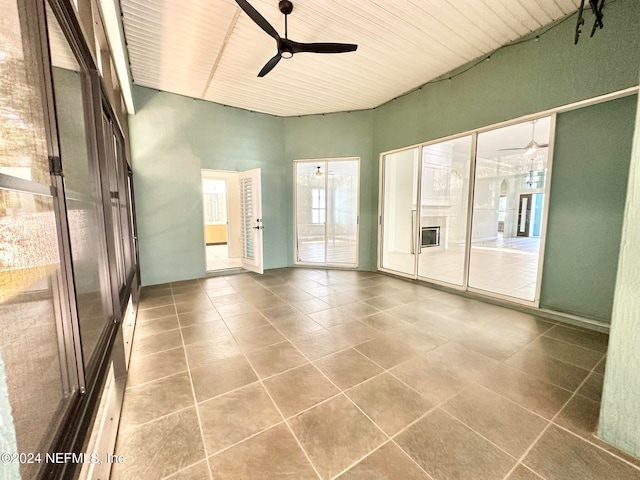
[[[286,265],[283,119],[136,87],[130,117],[142,284],[205,275],[200,169],[262,169],[265,268]]]

